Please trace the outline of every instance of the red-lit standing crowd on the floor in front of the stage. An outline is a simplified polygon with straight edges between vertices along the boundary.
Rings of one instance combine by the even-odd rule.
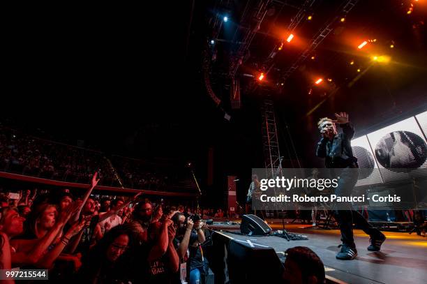
[[[155,204],[140,193],[97,200],[97,176],[79,197],[66,189],[1,193],[0,269],[49,269],[50,281],[63,283],[204,283],[211,243],[204,220],[223,210]],[[295,249],[284,279],[323,283],[317,255]],[[299,274],[289,272],[299,265]]]

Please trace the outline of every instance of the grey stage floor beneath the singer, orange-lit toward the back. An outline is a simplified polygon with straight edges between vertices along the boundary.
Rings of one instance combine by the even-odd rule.
[[[281,221],[269,221],[273,230],[282,230]],[[339,230],[315,229],[310,225],[288,224],[288,232],[303,234],[305,241],[287,241],[281,237],[250,237],[232,234],[239,231],[239,225],[214,223],[213,230],[223,230],[223,234],[234,239],[250,240],[274,248],[280,259],[283,252],[294,246],[307,246],[322,259],[327,276],[346,283],[427,283],[427,238],[407,232],[384,232],[387,241],[380,252],[370,252],[369,237],[361,230],[354,230],[354,241],[358,256],[355,260],[336,260],[340,244]],[[230,232],[225,232],[230,231]]]

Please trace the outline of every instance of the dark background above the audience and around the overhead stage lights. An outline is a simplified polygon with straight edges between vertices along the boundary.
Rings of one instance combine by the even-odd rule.
[[[253,82],[242,82],[241,109],[232,110],[229,91],[217,76],[214,90],[223,104],[213,103],[201,70],[217,2],[174,2],[179,3],[11,9],[2,27],[1,121],[60,142],[84,140],[85,147],[108,154],[163,157],[182,167],[191,161],[211,205],[223,202],[226,176],[237,175],[238,198],[243,200],[251,168],[264,166],[262,96]],[[280,12],[275,6],[261,31],[287,27],[300,2],[287,1]],[[342,2],[316,1],[310,11],[313,20],[297,29],[297,37],[309,40]],[[232,3],[230,27],[220,35],[224,38],[234,32],[233,21],[241,17],[246,1]],[[315,60],[308,59],[283,88],[271,93],[285,156],[298,157],[303,167],[322,166],[313,157],[315,123],[334,112],[348,112],[361,135],[426,110],[426,5],[417,3],[414,13],[407,15],[408,5],[409,1],[359,1],[345,25],[317,47]],[[369,59],[347,45],[345,37],[356,34],[377,38],[378,48],[390,54],[392,62],[377,64],[357,78],[350,60],[365,70]],[[257,35],[239,72],[257,74],[255,67],[277,41]],[[217,48],[216,71],[226,65],[234,47],[218,43]],[[276,57],[277,72],[289,67],[299,52],[297,44],[291,45]],[[315,75],[333,78],[338,91],[330,96],[330,85],[313,87]],[[264,84],[278,82],[271,73]],[[230,121],[223,118],[224,110],[232,116]],[[212,185],[207,184],[210,147]]]

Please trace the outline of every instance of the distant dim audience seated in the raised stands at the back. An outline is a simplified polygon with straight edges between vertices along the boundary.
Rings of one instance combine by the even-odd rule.
[[[189,173],[185,170],[121,156],[106,158],[100,151],[42,140],[0,126],[0,171],[3,172],[88,183],[91,174],[98,171],[103,186],[169,190],[191,188]]]

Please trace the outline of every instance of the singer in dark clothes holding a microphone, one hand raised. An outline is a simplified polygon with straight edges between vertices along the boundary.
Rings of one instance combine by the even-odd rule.
[[[322,138],[317,143],[316,156],[324,158],[326,167],[334,169],[335,174],[339,175],[340,180],[335,194],[350,196],[359,176],[359,173],[354,170],[359,166],[357,165],[357,158],[353,156],[351,146],[354,128],[350,124],[347,113],[340,112],[335,116],[336,120],[324,117],[317,123]],[[341,133],[337,132],[336,124],[342,128]],[[356,224],[370,236],[368,251],[380,251],[381,245],[386,239],[384,234],[372,227],[358,211],[354,211],[351,204],[348,206],[348,210],[335,211],[340,225],[341,241],[343,241],[336,258],[338,260],[352,260],[357,256],[356,244],[354,244],[353,239],[353,224]]]

